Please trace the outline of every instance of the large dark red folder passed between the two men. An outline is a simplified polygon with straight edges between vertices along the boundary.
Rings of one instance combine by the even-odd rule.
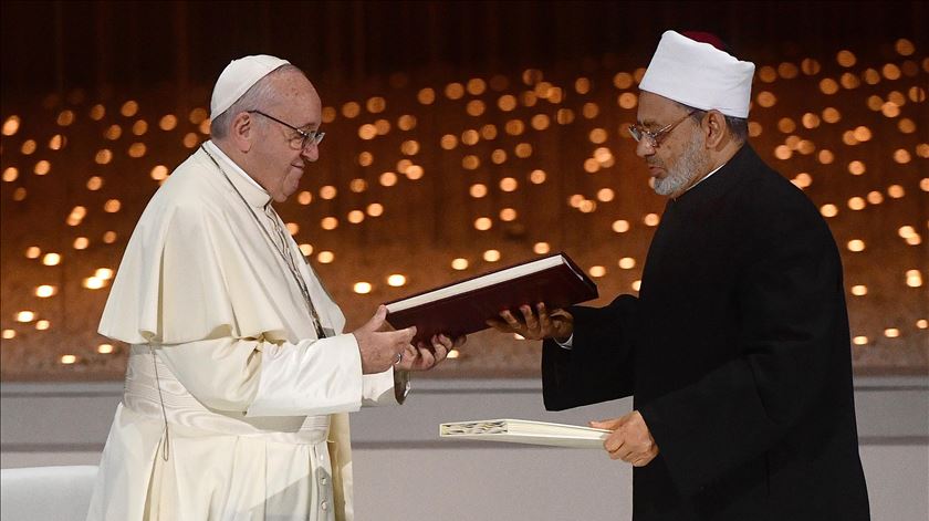
[[[597,298],[597,286],[565,253],[555,253],[388,302],[387,322],[396,329],[415,325],[414,343],[434,334],[459,336],[487,329],[503,310],[550,310]],[[519,314],[516,316],[520,316]]]

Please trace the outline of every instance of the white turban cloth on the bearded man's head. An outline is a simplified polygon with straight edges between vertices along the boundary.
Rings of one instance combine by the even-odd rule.
[[[727,116],[749,116],[754,63],[742,62],[709,43],[665,31],[639,88]]]

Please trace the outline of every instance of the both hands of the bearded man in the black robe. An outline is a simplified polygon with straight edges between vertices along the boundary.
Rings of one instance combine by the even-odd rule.
[[[535,304],[535,311],[530,305],[520,306],[519,314],[503,311],[500,319],[488,321],[488,325],[526,340],[554,338],[564,343],[574,334],[574,317],[571,313],[564,310],[549,313],[542,302]],[[603,444],[610,459],[622,459],[633,467],[645,467],[658,456],[658,445],[638,410],[618,418],[591,421],[591,427],[613,431]]]

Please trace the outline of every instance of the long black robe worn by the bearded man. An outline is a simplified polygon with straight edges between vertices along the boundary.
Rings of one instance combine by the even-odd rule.
[[[750,146],[669,200],[638,299],[570,311],[545,407],[634,395],[660,451],[634,520],[869,519],[838,251]]]

